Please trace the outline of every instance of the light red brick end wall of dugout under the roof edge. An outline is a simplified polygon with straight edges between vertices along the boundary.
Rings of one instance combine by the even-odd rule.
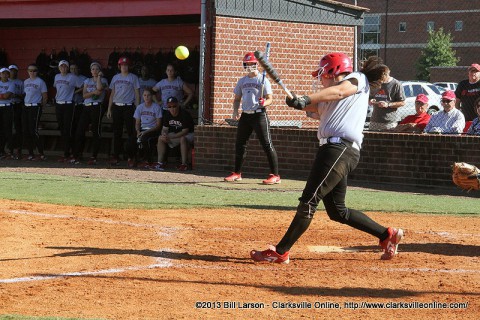
[[[312,91],[311,73],[320,58],[329,52],[345,52],[353,57],[353,28],[281,21],[216,16],[213,28],[211,93],[206,101],[210,120],[225,124],[232,117],[233,89],[245,71],[242,60],[249,51],[265,51],[271,43],[269,60],[287,87],[300,94]],[[273,81],[272,81],[273,82]],[[315,126],[302,114],[285,105],[285,94],[273,83],[271,120],[301,122],[302,128]]]

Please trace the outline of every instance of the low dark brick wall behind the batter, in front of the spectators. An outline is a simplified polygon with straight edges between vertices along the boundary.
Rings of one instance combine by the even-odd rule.
[[[480,164],[480,137],[365,132],[362,156],[351,180],[402,185],[451,185],[453,162]],[[198,170],[233,170],[236,128],[198,126],[195,166]],[[272,129],[280,175],[305,179],[317,148],[315,130]],[[244,176],[266,176],[268,161],[252,135]]]

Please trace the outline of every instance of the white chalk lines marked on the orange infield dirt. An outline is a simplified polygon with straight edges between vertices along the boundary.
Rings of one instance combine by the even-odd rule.
[[[99,223],[106,223],[106,224],[119,224],[119,225],[127,225],[132,227],[142,227],[142,228],[152,228],[157,229],[157,234],[160,237],[171,238],[173,237],[173,232],[179,230],[195,230],[196,228],[188,228],[188,227],[165,227],[159,226],[154,224],[141,224],[141,223],[133,223],[127,221],[116,221],[111,219],[98,219],[98,218],[84,218],[84,217],[76,217],[72,215],[66,214],[47,214],[47,213],[40,213],[40,212],[33,212],[27,210],[8,210],[5,211],[11,214],[24,214],[24,215],[32,215],[32,216],[40,216],[46,218],[58,218],[58,219],[72,219],[77,221],[89,221],[89,222],[99,222]],[[166,231],[160,231],[166,230]],[[233,230],[233,228],[212,228],[218,230]],[[431,232],[416,232],[416,233],[431,233]],[[440,236],[447,236],[449,237],[451,234],[448,232],[441,232],[441,233],[434,233]],[[158,250],[159,253],[161,252],[175,252],[172,249],[162,249]],[[190,263],[174,263],[173,260],[169,258],[157,257],[155,258],[156,263],[150,264],[147,266],[130,266],[130,267],[123,267],[123,268],[111,268],[111,269],[102,269],[96,271],[79,271],[79,272],[67,272],[67,273],[59,273],[59,274],[52,274],[52,275],[39,275],[39,276],[29,276],[29,277],[18,277],[18,278],[8,278],[8,279],[0,279],[1,283],[20,283],[20,282],[33,282],[33,281],[45,281],[45,280],[54,280],[59,278],[68,278],[68,277],[82,277],[82,276],[95,276],[95,275],[102,275],[102,274],[115,274],[115,273],[125,273],[129,271],[143,271],[143,270],[150,270],[150,269],[159,269],[159,268],[192,268],[192,269],[206,269],[206,270],[232,270],[234,268],[222,265],[198,265],[198,264],[190,264]],[[275,265],[252,265],[255,269],[259,270],[275,270],[278,267]],[[295,267],[296,269],[301,269]],[[468,269],[433,269],[433,268],[378,268],[378,267],[371,267],[371,268],[353,268],[357,270],[367,270],[367,271],[375,271],[375,272],[422,272],[422,273],[453,273],[453,274],[467,274],[473,273],[477,274],[480,273],[480,270],[468,270]],[[335,271],[335,268],[322,268],[321,272],[331,272]]]

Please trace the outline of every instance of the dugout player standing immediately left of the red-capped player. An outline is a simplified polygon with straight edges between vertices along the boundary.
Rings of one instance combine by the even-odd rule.
[[[100,63],[92,62],[90,64],[92,77],[83,82],[83,98],[85,100],[83,101],[84,107],[75,133],[75,152],[73,153],[75,164],[80,163],[82,158],[85,147],[85,131],[88,125],[90,125],[92,131],[92,156],[88,160],[88,164],[97,164],[97,155],[102,139],[102,118],[105,113],[105,91],[108,89],[108,81],[103,78],[101,70],[102,66]]]

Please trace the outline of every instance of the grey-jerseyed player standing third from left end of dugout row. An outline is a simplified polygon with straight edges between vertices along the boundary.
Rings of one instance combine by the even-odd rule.
[[[25,92],[24,108],[22,113],[23,142],[28,150],[27,160],[36,160],[33,150],[35,147],[40,154],[39,160],[46,160],[43,154],[43,141],[38,134],[38,123],[42,109],[47,104],[47,85],[38,77],[38,67],[30,64],[27,67],[29,78],[23,82]]]

